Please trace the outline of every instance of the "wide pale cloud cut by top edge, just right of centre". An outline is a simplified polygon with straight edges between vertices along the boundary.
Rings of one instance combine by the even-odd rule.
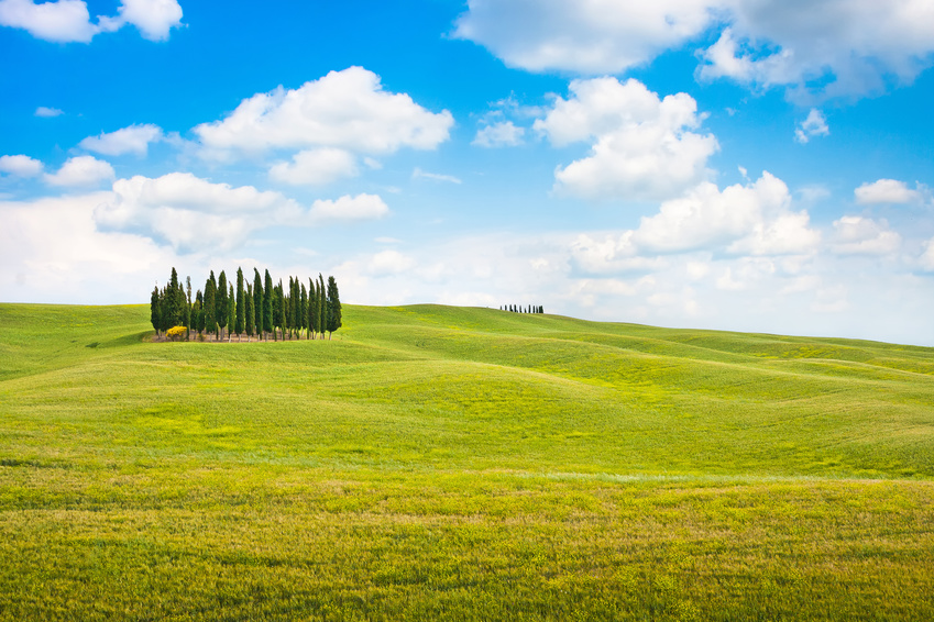
[[[711,21],[705,0],[471,0],[454,36],[510,67],[617,74],[680,47]]]

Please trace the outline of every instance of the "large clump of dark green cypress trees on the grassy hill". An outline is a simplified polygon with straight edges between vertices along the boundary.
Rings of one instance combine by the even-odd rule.
[[[288,288],[282,279],[273,285],[270,270],[265,278],[253,268],[253,282],[244,282],[243,270],[237,268],[237,287],[228,282],[221,270],[215,278],[215,271],[205,282],[205,289],[191,296],[191,277],[185,279],[185,286],[178,281],[178,273],[172,268],[172,276],[162,289],[153,289],[150,299],[150,319],[156,335],[169,334],[175,337],[184,333],[185,340],[213,335],[216,341],[231,340],[235,334],[242,340],[256,335],[260,340],[273,341],[301,338],[325,338],[341,327],[341,301],[334,277],[308,279],[308,287],[298,277],[288,277]],[[184,327],[179,331],[178,327]],[[173,331],[173,329],[175,329]]]

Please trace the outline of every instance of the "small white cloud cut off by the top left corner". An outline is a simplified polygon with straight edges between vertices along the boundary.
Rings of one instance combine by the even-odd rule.
[[[40,4],[33,0],[0,0],[0,24],[57,43],[88,43],[98,33],[132,24],[145,38],[163,41],[172,27],[182,25],[182,7],[176,0],[123,0],[117,15],[98,15],[97,23],[92,23],[84,0]]]

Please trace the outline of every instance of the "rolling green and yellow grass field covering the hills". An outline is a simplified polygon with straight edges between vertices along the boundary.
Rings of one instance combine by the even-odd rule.
[[[0,620],[934,620],[934,348],[0,304]]]

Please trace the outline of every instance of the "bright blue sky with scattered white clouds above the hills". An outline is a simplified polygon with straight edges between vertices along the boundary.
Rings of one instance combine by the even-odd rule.
[[[934,346],[930,0],[0,0],[0,301]]]

